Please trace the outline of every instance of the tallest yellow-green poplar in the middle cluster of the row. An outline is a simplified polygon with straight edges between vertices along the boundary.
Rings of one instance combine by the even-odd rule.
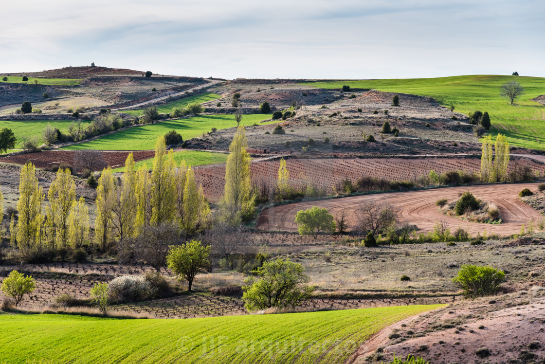
[[[151,177],[152,219],[150,223],[159,226],[173,221],[176,207],[176,163],[172,149],[166,152],[165,138],[155,143],[155,158]]]

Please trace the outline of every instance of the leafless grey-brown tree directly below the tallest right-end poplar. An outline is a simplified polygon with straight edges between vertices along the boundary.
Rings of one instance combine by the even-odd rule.
[[[204,234],[204,241],[210,244],[212,251],[225,257],[227,264],[232,254],[245,253],[253,247],[253,239],[240,227],[229,226],[225,222],[217,222]]]

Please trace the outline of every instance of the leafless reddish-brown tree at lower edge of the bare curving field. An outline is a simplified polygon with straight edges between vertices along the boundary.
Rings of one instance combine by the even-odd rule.
[[[397,223],[398,211],[384,202],[364,201],[356,210],[359,228],[362,232],[371,231],[373,235]]]

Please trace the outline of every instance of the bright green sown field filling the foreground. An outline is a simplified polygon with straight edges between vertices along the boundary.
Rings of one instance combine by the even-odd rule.
[[[373,333],[442,305],[196,319],[0,314],[0,362],[344,362]]]

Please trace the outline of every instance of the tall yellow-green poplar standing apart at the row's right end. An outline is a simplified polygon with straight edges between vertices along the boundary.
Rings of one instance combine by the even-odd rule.
[[[225,193],[221,201],[223,219],[230,225],[249,220],[255,210],[255,195],[251,193],[250,153],[244,126],[239,126],[225,166]]]

